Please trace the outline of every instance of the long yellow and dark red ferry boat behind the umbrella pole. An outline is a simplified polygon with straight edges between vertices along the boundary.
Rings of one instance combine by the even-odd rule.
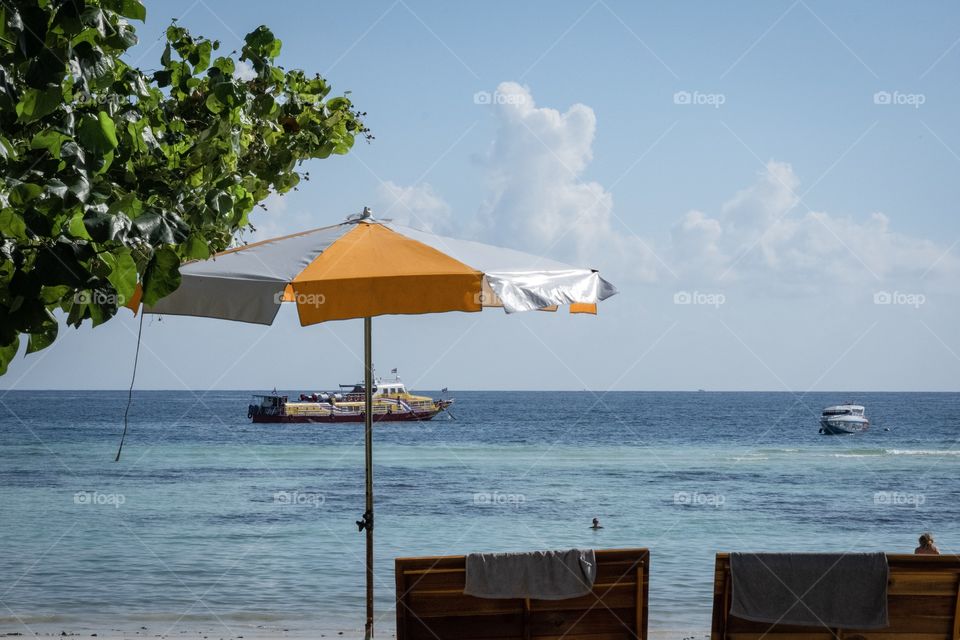
[[[363,422],[364,391],[361,382],[342,384],[339,393],[302,393],[299,400],[290,400],[276,392],[255,395],[247,417],[253,422]],[[453,399],[415,396],[407,391],[400,378],[377,380],[373,386],[374,422],[430,420],[452,404]]]

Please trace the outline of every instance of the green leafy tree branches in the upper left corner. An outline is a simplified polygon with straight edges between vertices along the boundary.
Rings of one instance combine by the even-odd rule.
[[[216,56],[174,22],[142,72],[123,55],[145,17],[140,0],[0,3],[0,374],[22,335],[28,353],[56,339],[58,309],[96,326],[138,285],[168,295],[302,161],[369,137],[326,80],[275,64],[264,26]]]

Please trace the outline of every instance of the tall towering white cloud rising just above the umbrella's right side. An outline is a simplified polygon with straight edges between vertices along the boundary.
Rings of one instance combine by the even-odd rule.
[[[642,278],[653,275],[646,243],[614,229],[613,197],[582,180],[593,159],[597,118],[583,104],[565,113],[537,107],[529,89],[504,82],[494,94],[497,132],[484,158],[489,193],[479,226],[488,239],[600,266],[616,258]]]

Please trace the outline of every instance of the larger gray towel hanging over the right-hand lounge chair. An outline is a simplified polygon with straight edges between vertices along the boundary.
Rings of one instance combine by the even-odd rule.
[[[883,553],[733,553],[730,615],[846,629],[887,626]]]

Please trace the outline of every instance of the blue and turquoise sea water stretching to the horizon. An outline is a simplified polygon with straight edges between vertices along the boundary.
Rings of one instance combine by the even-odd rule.
[[[718,551],[960,549],[960,394],[453,395],[375,430],[378,635],[398,556],[648,547],[651,628],[706,631]],[[818,435],[848,399],[870,431]],[[136,392],[115,463],[125,400],[0,399],[0,632],[362,628],[362,425]]]

